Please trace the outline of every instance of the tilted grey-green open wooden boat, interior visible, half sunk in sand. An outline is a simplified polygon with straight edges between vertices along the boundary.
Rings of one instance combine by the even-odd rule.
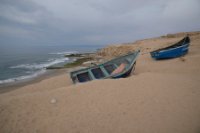
[[[140,50],[137,50],[99,65],[73,71],[70,73],[71,79],[73,83],[82,83],[96,79],[127,77],[135,69],[139,53]]]

